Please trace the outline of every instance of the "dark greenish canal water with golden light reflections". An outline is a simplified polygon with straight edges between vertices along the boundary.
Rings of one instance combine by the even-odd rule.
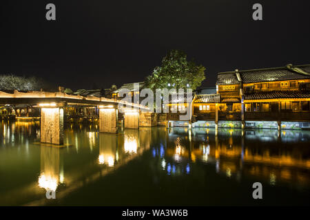
[[[57,147],[38,122],[0,125],[1,206],[309,206],[310,131],[71,124]]]

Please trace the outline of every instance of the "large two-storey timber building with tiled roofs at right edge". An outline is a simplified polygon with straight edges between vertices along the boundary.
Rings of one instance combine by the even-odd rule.
[[[310,65],[241,72],[245,120],[310,121]]]

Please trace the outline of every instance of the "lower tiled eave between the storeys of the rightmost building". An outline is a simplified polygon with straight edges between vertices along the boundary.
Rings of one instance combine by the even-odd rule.
[[[245,100],[271,99],[271,98],[310,98],[310,91],[267,91],[245,94]]]

